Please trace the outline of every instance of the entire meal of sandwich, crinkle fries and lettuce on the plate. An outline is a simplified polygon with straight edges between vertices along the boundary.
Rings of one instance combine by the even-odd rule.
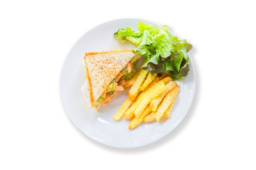
[[[121,28],[114,38],[130,41],[137,48],[85,53],[87,75],[81,91],[86,107],[105,105],[118,91],[131,87],[114,120],[124,117],[130,121],[129,129],[134,129],[142,122],[169,118],[179,93],[175,81],[188,75],[192,45],[170,34],[166,25],[142,22],[138,31]]]

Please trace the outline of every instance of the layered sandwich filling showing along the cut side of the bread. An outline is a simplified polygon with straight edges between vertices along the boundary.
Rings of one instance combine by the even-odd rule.
[[[138,59],[132,62],[128,62],[127,66],[125,66],[120,73],[116,75],[116,77],[109,83],[106,90],[103,94],[97,99],[97,103],[99,104],[107,104],[110,99],[112,99],[118,91],[124,91],[124,85],[127,83],[127,80],[130,80],[137,72],[136,64],[138,63]]]

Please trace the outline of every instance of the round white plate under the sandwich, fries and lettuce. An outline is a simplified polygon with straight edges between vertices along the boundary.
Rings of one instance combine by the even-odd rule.
[[[131,131],[128,129],[128,121],[122,119],[116,122],[113,120],[113,115],[127,97],[127,91],[119,92],[107,106],[102,106],[99,111],[84,108],[80,92],[86,76],[81,71],[84,53],[133,48],[134,46],[129,43],[116,41],[113,38],[113,33],[125,27],[137,29],[140,21],[149,25],[157,25],[148,20],[124,18],[105,22],[86,32],[68,52],[61,71],[61,99],[72,122],[80,131],[95,141],[116,148],[136,148],[166,136],[185,117],[195,92],[195,69],[191,57],[189,57],[189,74],[184,80],[177,82],[180,92],[170,118],[165,121],[143,123]]]

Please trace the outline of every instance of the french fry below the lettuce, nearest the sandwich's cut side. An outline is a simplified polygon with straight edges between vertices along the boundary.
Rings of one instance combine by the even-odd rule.
[[[137,80],[132,85],[131,89],[129,90],[129,99],[131,101],[134,101],[136,99],[136,97],[138,96],[138,94],[140,92],[140,87],[141,87],[143,81],[145,80],[147,74],[148,74],[147,71],[141,70],[140,75],[138,76]]]

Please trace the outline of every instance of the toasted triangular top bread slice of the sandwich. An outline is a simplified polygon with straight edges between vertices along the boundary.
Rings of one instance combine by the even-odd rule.
[[[84,89],[88,89],[90,92],[90,104],[92,107],[97,108],[99,106],[97,99],[103,94],[116,75],[134,57],[135,54],[132,53],[132,50],[124,49],[119,51],[85,53],[84,62],[88,85]],[[85,101],[88,101],[88,99]]]

